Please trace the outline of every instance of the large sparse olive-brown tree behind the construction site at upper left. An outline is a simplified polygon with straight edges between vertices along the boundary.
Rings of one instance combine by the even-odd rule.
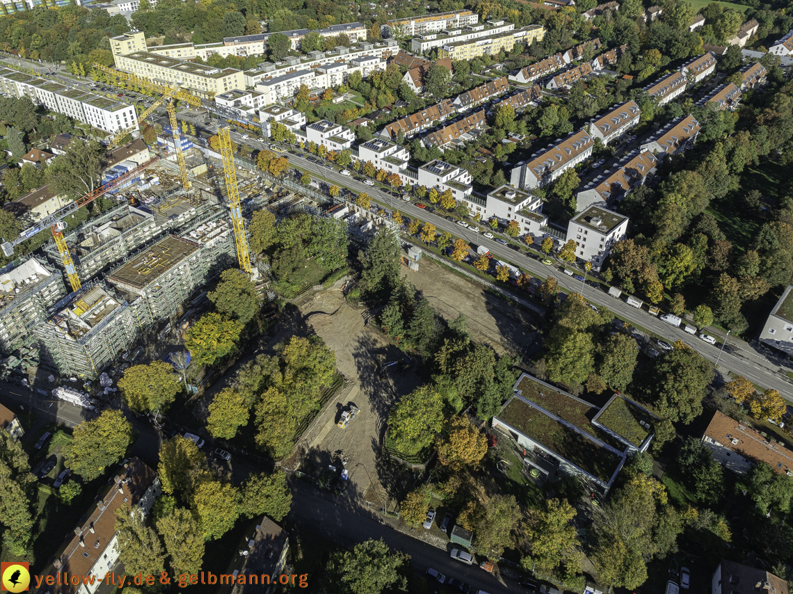
[[[105,149],[96,141],[75,138],[66,152],[47,168],[47,177],[60,196],[80,197],[101,185],[102,155]]]

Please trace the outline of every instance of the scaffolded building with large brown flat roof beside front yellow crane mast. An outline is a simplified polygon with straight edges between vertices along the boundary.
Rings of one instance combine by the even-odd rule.
[[[145,317],[162,320],[220,271],[234,266],[236,247],[228,214],[216,209],[182,236],[169,235],[138,252],[107,275],[107,282],[141,297]],[[137,303],[138,301],[136,301]]]

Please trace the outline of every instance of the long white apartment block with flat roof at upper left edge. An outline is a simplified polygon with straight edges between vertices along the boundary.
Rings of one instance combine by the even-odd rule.
[[[6,68],[0,69],[0,91],[17,98],[27,95],[36,105],[104,132],[121,132],[138,125],[133,105]]]

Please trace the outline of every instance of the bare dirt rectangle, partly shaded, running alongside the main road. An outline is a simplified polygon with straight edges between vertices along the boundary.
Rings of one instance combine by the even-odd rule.
[[[402,276],[418,289],[446,320],[461,313],[471,338],[489,344],[496,353],[522,354],[537,334],[537,314],[510,305],[429,258],[419,261],[419,270],[402,268]]]

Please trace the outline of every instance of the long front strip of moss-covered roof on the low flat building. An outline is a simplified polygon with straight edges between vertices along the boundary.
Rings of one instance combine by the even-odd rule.
[[[617,454],[518,398],[510,401],[499,419],[601,481],[609,481],[619,466]]]

